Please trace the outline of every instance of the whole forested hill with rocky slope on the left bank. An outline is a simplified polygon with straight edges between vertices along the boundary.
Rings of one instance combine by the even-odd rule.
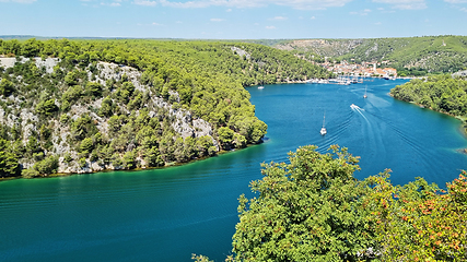
[[[244,88],[330,74],[246,43],[1,40],[0,177],[166,166],[260,143]],[[9,60],[10,59],[10,60]]]

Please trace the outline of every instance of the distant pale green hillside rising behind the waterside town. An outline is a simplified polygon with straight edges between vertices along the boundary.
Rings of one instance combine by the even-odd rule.
[[[335,59],[389,61],[399,69],[417,68],[429,73],[467,68],[467,36],[424,36],[373,39],[303,39],[275,46],[278,49],[315,52]]]

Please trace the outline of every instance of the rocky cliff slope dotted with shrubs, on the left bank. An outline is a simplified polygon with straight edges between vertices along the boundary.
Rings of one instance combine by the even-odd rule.
[[[161,135],[164,133],[171,134],[172,132],[173,141],[168,143],[174,143],[177,138],[182,139],[183,142],[190,138],[189,140],[194,141],[203,140],[207,143],[206,146],[209,147],[210,154],[220,150],[219,142],[213,135],[212,126],[208,121],[194,118],[189,110],[175,107],[166,98],[154,94],[150,86],[141,83],[141,72],[137,69],[98,61],[85,68],[72,68],[70,70],[66,69],[60,62],[61,60],[58,58],[0,58],[1,70],[5,72],[3,78],[0,78],[0,82],[13,83],[15,90],[15,92],[0,97],[0,104],[2,105],[0,108],[0,124],[3,130],[10,132],[14,130],[15,133],[20,134],[21,138],[17,141],[21,141],[21,143],[19,142],[17,146],[22,148],[25,155],[25,157],[19,159],[22,168],[32,169],[37,162],[47,157],[56,157],[58,162],[57,172],[79,174],[104,169],[122,169],[128,164],[125,163],[125,157],[129,152],[133,153],[133,155],[130,154],[132,157],[130,159],[132,162],[131,165],[140,168],[167,165],[176,160],[173,159],[174,157],[164,157],[160,152],[156,152],[155,154],[159,157],[156,159],[159,160],[156,160],[155,165],[154,163],[151,165],[148,153],[144,153],[144,150],[138,151],[136,148],[137,140],[144,140],[138,138],[143,127],[140,127],[141,123],[139,123],[140,126],[136,123],[138,119],[143,117],[147,118],[147,123],[155,122],[154,127],[161,127],[154,128],[157,130],[154,134],[157,139],[154,140],[159,141]],[[47,81],[54,82],[54,86],[50,88],[58,90],[57,93],[51,94],[48,90],[39,88],[39,92],[35,94],[37,99],[32,98],[34,102],[25,103],[27,99],[27,92],[25,91],[33,86],[34,83],[25,81],[26,78],[30,78],[27,73],[15,73],[23,67],[28,67],[27,70],[36,72],[37,78],[40,76],[43,80],[47,79]],[[35,67],[35,69],[32,69],[32,67]],[[81,76],[67,80],[67,76],[73,73],[81,74]],[[69,81],[69,83],[54,81],[59,79],[57,76],[59,74],[66,74],[63,82]],[[94,83],[94,85],[90,83]],[[112,85],[114,87],[110,87]],[[132,88],[131,95],[128,97],[130,102],[128,104],[119,100],[118,96],[115,95],[120,92],[124,85]],[[103,88],[105,91],[100,92],[107,93],[107,96],[97,95],[92,99],[85,98],[87,91],[83,86]],[[67,94],[72,92],[79,92],[79,95],[75,95],[71,100],[67,100],[66,97],[69,97]],[[170,95],[175,102],[179,102],[177,92],[171,91]],[[144,98],[140,99],[141,97]],[[58,115],[57,110],[50,110],[49,115],[40,112],[40,103],[47,102],[49,98],[54,103],[51,107],[60,108],[61,115]],[[140,104],[131,106],[131,103],[138,99],[140,99]],[[68,109],[66,108],[67,103],[69,103]],[[107,105],[109,103],[113,104],[114,112],[126,119],[118,128],[122,129],[128,126],[127,128],[133,134],[128,136],[130,141],[120,142],[124,150],[112,152],[109,158],[105,160],[102,159],[105,144],[112,144],[124,135],[120,130],[115,130],[115,123],[112,123],[110,118],[115,114],[103,114],[103,104]],[[141,116],[141,114],[144,114],[144,116]],[[92,145],[90,146],[92,152],[87,152],[83,147],[84,136],[77,134],[77,129],[82,128],[78,127],[78,123],[83,122],[83,119],[86,121],[84,124],[87,126],[83,128],[84,132],[87,132],[87,135],[84,136],[92,140]],[[152,119],[155,119],[155,121],[152,121]],[[166,122],[170,126],[164,126]],[[112,124],[114,124],[112,127],[113,130],[110,130]],[[97,136],[103,139],[97,139]],[[140,136],[143,136],[143,134]],[[37,138],[38,146],[31,145],[31,138]],[[105,140],[105,143],[101,142],[101,140]],[[36,146],[35,150],[28,148],[34,146]],[[159,150],[159,142],[153,142],[151,146],[156,146]],[[30,150],[31,152],[27,152]],[[176,148],[172,148],[172,153],[175,151]],[[95,154],[93,155],[94,152]],[[27,157],[28,153],[31,153],[30,157]],[[200,154],[198,156],[203,155]],[[189,160],[192,157],[196,156],[190,155],[185,160]]]

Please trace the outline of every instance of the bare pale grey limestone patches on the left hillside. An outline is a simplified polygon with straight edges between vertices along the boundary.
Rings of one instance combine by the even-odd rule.
[[[245,53],[246,55],[246,53]],[[28,58],[0,58],[0,67],[3,69],[14,67],[17,62],[30,61]],[[54,73],[54,68],[59,64],[60,59],[58,58],[34,58],[38,69],[45,68],[47,74]],[[122,75],[126,75],[128,80],[135,85],[137,91],[140,91],[142,94],[148,94],[150,102],[147,102],[145,105],[142,105],[141,108],[148,108],[149,116],[151,118],[159,117],[157,111],[164,110],[168,114],[171,118],[171,126],[183,139],[188,136],[200,138],[203,135],[209,135],[212,139],[214,146],[219,151],[219,143],[213,136],[213,130],[211,124],[203,119],[192,119],[192,115],[189,110],[180,108],[179,106],[174,107],[170,102],[164,100],[162,97],[155,96],[152,94],[150,86],[147,86],[140,82],[142,73],[135,68],[120,66],[109,62],[97,62],[97,72],[92,73],[90,68],[87,68],[87,76],[92,82],[97,82],[102,85],[106,85],[106,81],[114,79],[115,81],[121,80]],[[20,82],[21,82],[20,78]],[[176,91],[170,91],[170,100],[179,103],[180,98]],[[13,105],[9,110],[4,110],[0,107],[0,123],[8,127],[21,127],[23,136],[23,145],[26,145],[28,139],[33,134],[40,132],[40,124],[43,124],[39,116],[35,111],[35,105],[32,105],[28,108],[22,108],[19,105],[22,103],[19,97],[15,97],[14,94],[10,97],[0,97],[0,100]],[[97,115],[98,109],[102,107],[103,98],[96,98],[94,100],[83,103],[72,104],[70,109],[66,112],[70,121],[75,121],[78,118],[83,115],[87,115],[93,121],[94,126],[97,128],[98,132],[108,136],[109,128],[107,120],[108,118]],[[59,98],[56,98],[56,106],[60,107],[61,102]],[[131,111],[127,108],[121,107],[126,114],[130,115]],[[136,116],[139,115],[139,111],[135,112]],[[56,155],[59,157],[59,167],[58,172],[62,174],[82,174],[82,172],[95,172],[105,169],[122,169],[121,166],[113,166],[112,164],[104,164],[102,160],[91,162],[87,157],[85,159],[85,165],[81,166],[78,162],[80,156],[78,152],[77,142],[70,143],[73,139],[71,132],[70,123],[61,123],[59,117],[48,120],[48,127],[51,127],[51,139],[50,151],[45,151],[45,155]],[[40,122],[40,124],[39,124]],[[113,138],[107,138],[112,140]],[[135,146],[135,145],[133,145]],[[128,148],[127,148],[128,150]],[[65,160],[65,155],[71,156],[72,160],[67,163]],[[137,156],[136,160],[144,168],[147,164],[143,157]],[[23,168],[28,168],[34,165],[34,160],[20,160],[20,164]]]

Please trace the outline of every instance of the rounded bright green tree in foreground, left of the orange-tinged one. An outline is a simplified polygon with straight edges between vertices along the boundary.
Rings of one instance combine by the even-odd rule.
[[[367,193],[353,178],[358,158],[339,148],[316,146],[290,153],[290,164],[262,165],[258,193],[240,198],[233,236],[238,261],[341,261],[365,258],[374,247],[371,224],[359,199]]]

